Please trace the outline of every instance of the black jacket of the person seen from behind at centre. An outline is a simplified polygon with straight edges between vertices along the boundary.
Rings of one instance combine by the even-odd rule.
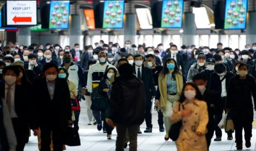
[[[110,119],[117,124],[142,124],[145,118],[145,89],[143,82],[133,75],[131,79],[117,77],[110,98]]]

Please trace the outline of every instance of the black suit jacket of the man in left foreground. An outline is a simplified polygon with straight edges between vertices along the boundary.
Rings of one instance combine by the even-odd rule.
[[[71,120],[71,102],[66,79],[56,79],[53,100],[47,88],[46,78],[36,80],[32,86],[35,104],[34,123],[32,129],[39,126],[57,127],[66,129],[67,121]]]

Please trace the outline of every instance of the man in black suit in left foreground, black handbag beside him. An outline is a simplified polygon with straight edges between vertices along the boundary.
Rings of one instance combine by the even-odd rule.
[[[58,67],[46,63],[42,70],[44,78],[37,80],[32,86],[34,100],[34,123],[31,129],[34,134],[41,130],[41,150],[50,150],[51,131],[53,150],[62,150],[64,132],[71,124],[71,103],[66,79],[57,78]]]

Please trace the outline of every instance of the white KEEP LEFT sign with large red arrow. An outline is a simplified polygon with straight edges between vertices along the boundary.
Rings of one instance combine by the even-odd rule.
[[[36,24],[36,1],[7,1],[7,26]]]

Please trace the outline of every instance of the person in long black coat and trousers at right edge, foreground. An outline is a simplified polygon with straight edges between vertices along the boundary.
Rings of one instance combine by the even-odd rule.
[[[238,66],[238,75],[230,79],[227,90],[226,110],[229,111],[236,131],[237,149],[243,148],[242,131],[246,147],[250,147],[253,123],[253,102],[256,104],[256,82],[248,74],[248,67],[244,63]],[[256,111],[256,106],[254,106]]]

